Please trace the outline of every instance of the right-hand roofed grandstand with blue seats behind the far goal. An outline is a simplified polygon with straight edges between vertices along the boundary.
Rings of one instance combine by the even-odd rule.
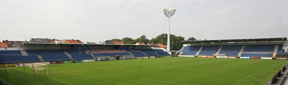
[[[177,55],[249,57],[283,57],[287,56],[287,38],[259,38],[259,39],[225,39],[204,41],[183,41],[184,44]],[[286,53],[285,53],[286,52]]]

